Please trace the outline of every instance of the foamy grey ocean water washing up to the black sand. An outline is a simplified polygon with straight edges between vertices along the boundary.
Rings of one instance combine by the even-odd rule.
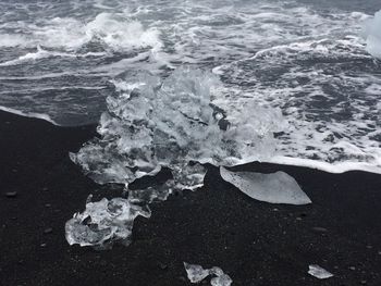
[[[364,29],[380,9],[379,0],[2,1],[0,109],[97,123],[106,99],[134,84],[126,73],[167,78],[187,66],[219,77],[213,104],[232,121],[245,112],[268,126],[281,111],[276,151],[262,161],[381,173],[381,62]]]

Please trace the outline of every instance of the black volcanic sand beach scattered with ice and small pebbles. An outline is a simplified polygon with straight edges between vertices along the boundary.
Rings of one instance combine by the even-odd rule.
[[[314,203],[293,207],[255,201],[209,167],[205,187],[138,217],[131,246],[70,247],[66,220],[105,192],[67,157],[94,136],[0,112],[0,285],[190,285],[183,261],[220,266],[233,285],[381,285],[381,175],[365,172],[237,167],[294,176]],[[335,276],[315,278],[309,264]]]

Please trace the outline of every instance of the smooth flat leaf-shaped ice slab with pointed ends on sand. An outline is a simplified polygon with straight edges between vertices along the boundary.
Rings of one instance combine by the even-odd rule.
[[[271,203],[311,203],[296,181],[284,172],[260,174],[231,172],[221,167],[220,173],[224,181],[233,184],[253,199]]]

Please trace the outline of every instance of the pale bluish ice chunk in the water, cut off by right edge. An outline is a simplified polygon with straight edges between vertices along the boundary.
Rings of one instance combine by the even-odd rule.
[[[364,34],[367,40],[367,51],[381,60],[381,11],[373,18],[366,21]]]

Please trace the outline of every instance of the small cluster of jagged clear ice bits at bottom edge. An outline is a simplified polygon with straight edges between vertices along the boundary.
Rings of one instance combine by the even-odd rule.
[[[200,265],[184,262],[184,268],[190,283],[199,283],[209,275],[216,276],[210,279],[212,286],[230,286],[233,283],[232,278],[217,266],[204,269]]]

